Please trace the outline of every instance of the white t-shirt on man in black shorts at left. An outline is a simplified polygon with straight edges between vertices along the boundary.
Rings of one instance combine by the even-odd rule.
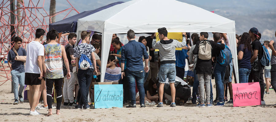
[[[26,73],[40,74],[37,57],[44,56],[44,47],[37,41],[32,41],[27,46]]]

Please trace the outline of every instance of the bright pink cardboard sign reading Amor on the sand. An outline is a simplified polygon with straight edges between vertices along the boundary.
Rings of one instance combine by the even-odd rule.
[[[259,82],[235,83],[233,88],[233,106],[261,105],[261,88]]]

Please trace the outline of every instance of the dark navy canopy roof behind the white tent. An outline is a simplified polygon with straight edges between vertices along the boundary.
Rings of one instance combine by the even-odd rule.
[[[76,14],[74,16],[65,18],[61,21],[51,23],[49,25],[49,30],[55,29],[58,32],[62,32],[62,33],[76,32],[77,31],[77,21],[78,21],[78,19],[86,17],[86,16],[91,15],[93,13],[99,12],[101,10],[107,9],[111,6],[121,4],[121,3],[124,3],[124,2],[114,2],[114,3],[108,4],[106,6],[102,6],[98,9],[90,10],[90,11],[84,11],[84,12]]]

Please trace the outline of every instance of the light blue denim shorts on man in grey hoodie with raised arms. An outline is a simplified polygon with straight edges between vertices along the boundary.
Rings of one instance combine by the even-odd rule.
[[[169,78],[169,83],[174,83],[175,76],[175,63],[161,64],[158,74],[159,83],[165,83],[167,78]]]

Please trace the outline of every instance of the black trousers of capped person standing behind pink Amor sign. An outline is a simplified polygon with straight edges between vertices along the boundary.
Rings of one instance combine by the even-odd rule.
[[[261,67],[261,69],[259,71],[252,71],[251,70],[251,72],[249,74],[249,78],[248,78],[248,82],[252,82],[252,80],[253,80],[254,82],[259,82],[260,83],[261,100],[262,101],[263,101],[263,94],[264,94],[263,69],[264,69],[264,67]],[[271,76],[272,76],[272,74],[271,74]]]

